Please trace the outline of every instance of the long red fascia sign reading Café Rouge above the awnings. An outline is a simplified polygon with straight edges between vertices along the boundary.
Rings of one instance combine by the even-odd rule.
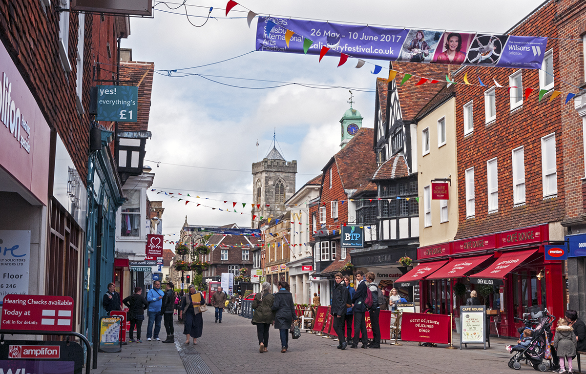
[[[419,247],[417,249],[417,259],[425,260],[448,256],[449,254],[521,246],[523,244],[540,243],[547,239],[547,225],[524,227],[522,229],[455,240],[454,242],[435,244],[434,246]]]

